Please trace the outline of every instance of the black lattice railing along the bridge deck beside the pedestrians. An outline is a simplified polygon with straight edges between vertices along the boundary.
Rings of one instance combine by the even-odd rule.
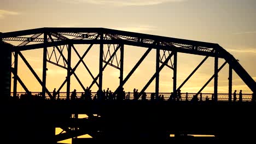
[[[77,92],[77,99],[80,99],[82,96],[83,92]],[[13,97],[13,93],[10,93],[11,97]],[[21,97],[21,95],[26,95],[26,92],[18,92],[18,98]],[[31,93],[33,96],[38,96],[40,97],[40,92],[32,92]],[[51,93],[53,94],[53,93]],[[150,100],[151,99],[151,94],[152,93],[146,93],[146,99]],[[70,94],[71,95],[71,94]],[[91,93],[91,98],[94,99],[94,97],[96,97],[96,92],[92,92]],[[162,100],[168,100],[170,98],[171,93],[159,93],[159,99]],[[194,95],[196,95],[196,93],[181,93],[181,99],[179,100],[188,100],[190,101]],[[66,92],[60,92],[59,94],[56,95],[56,99],[66,99],[67,98],[67,93]],[[134,98],[133,93],[131,92],[127,92],[125,93],[125,99],[126,100],[132,100]],[[206,98],[208,98],[208,100],[212,100],[213,99],[213,94],[212,93],[200,93],[197,96],[199,101],[205,101]],[[46,93],[45,95],[45,99],[50,99],[50,97],[48,96],[48,94]],[[115,98],[114,98],[115,99]],[[139,97],[138,100],[141,100],[142,97]],[[236,94],[236,101],[238,101],[239,99],[239,94]],[[229,100],[229,94],[228,93],[219,93],[218,94],[218,101],[228,101]],[[232,101],[234,100],[234,97],[232,95]],[[242,94],[242,101],[252,101],[252,94]]]

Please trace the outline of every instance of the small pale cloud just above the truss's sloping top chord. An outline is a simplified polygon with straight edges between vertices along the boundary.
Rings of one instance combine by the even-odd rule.
[[[140,25],[140,26],[131,26],[131,27],[116,27],[113,29],[118,29],[121,31],[129,31],[129,32],[148,32],[148,31],[154,31],[156,28],[153,26]]]

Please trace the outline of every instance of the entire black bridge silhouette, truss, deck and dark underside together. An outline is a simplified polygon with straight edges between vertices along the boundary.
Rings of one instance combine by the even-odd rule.
[[[17,43],[17,41],[21,41],[21,43]],[[107,28],[28,29],[1,33],[0,43],[1,60],[4,62],[1,74],[3,101],[1,109],[6,110],[3,114],[6,116],[4,123],[7,123],[3,129],[7,131],[4,137],[7,137],[7,141],[10,143],[16,140],[21,143],[56,143],[69,138],[72,138],[73,143],[196,140],[195,137],[189,137],[188,134],[215,135],[216,137],[211,140],[216,142],[218,140],[252,140],[255,134],[249,132],[255,129],[254,125],[248,128],[244,127],[242,123],[247,123],[248,119],[251,122],[255,121],[252,113],[255,109],[256,83],[237,59],[218,44]],[[89,44],[83,55],[80,55],[75,48],[75,45],[79,44]],[[100,45],[99,69],[96,76],[91,73],[84,62],[85,56],[93,45]],[[125,45],[147,48],[147,51],[126,77],[124,77]],[[53,49],[49,49],[49,47]],[[43,49],[42,79],[22,54],[22,51],[34,49]],[[64,53],[63,50],[66,50],[67,53]],[[155,73],[136,97],[132,92],[123,93],[125,83],[153,50],[156,51]],[[79,61],[74,66],[71,64],[74,55],[72,52],[79,57]],[[59,56],[56,56],[56,53],[59,53]],[[177,86],[177,53],[205,56],[180,86]],[[197,93],[179,94],[179,90],[209,57],[214,58],[214,74],[210,79]],[[19,58],[30,69],[42,87],[42,92],[31,92],[26,86],[26,80],[21,79],[18,74]],[[113,59],[117,59],[117,61],[113,61]],[[220,67],[219,59],[225,60]],[[56,93],[59,95],[57,98],[46,87],[47,62],[67,71],[66,79],[57,88]],[[75,74],[80,64],[84,65],[93,79],[88,88],[85,88],[78,75]],[[226,64],[229,64],[229,93],[220,94],[218,93],[218,73]],[[119,86],[112,93],[115,99],[111,100],[104,98],[106,94],[102,91],[103,70],[107,65],[120,72]],[[175,98],[171,100],[168,100],[171,93],[159,93],[159,74],[164,67],[173,71],[172,94]],[[252,94],[243,94],[242,99],[235,103],[232,102],[234,101],[232,94],[233,70],[253,92]],[[11,74],[13,80],[11,80]],[[84,100],[82,93],[76,93],[76,97],[73,99],[70,88],[71,76],[75,77],[84,92],[97,85],[98,91],[90,94],[91,98],[96,95],[96,100]],[[154,80],[155,92],[145,93]],[[212,80],[214,80],[214,93],[202,93]],[[17,92],[18,82],[25,93]],[[65,85],[66,92],[61,92]],[[12,91],[11,87],[13,87]],[[181,96],[181,99],[177,99],[178,95]],[[191,103],[193,97],[197,97],[197,100]],[[206,100],[206,97],[209,100]],[[206,112],[202,110],[206,110]],[[80,114],[86,114],[88,118],[79,118]],[[243,119],[237,124],[238,117],[243,117]],[[223,119],[228,123],[223,123],[221,121]],[[197,124],[198,121],[200,121],[200,125]],[[55,135],[55,128],[59,127],[65,133]],[[28,132],[23,133],[24,130]],[[84,134],[89,134],[92,139],[78,138]],[[174,134],[175,139],[171,139],[170,134]],[[13,137],[16,139],[12,139]],[[205,139],[200,139],[197,142],[205,142]]]

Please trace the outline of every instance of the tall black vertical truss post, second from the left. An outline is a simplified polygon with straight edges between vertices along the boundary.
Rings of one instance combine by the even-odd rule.
[[[42,80],[42,97],[45,99],[46,88],[46,61],[47,61],[47,33],[44,33],[44,49],[43,49],[43,80]]]

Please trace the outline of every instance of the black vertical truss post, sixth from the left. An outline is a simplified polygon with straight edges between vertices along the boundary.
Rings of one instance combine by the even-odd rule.
[[[159,63],[160,63],[160,49],[156,46],[156,58],[155,58],[155,98],[158,99],[159,96]]]

